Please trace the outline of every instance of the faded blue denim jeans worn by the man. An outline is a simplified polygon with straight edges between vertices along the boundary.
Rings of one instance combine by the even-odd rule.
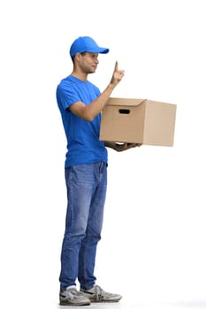
[[[95,284],[95,253],[101,239],[107,188],[107,164],[95,162],[65,170],[67,212],[61,252],[60,288]]]

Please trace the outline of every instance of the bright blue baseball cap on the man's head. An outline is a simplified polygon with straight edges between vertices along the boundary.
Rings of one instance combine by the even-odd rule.
[[[74,57],[77,53],[88,51],[89,53],[107,54],[110,49],[99,47],[89,36],[80,36],[72,42],[70,56]]]

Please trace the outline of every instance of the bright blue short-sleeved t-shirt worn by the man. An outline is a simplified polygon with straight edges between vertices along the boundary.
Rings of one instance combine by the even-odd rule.
[[[88,80],[82,81],[71,75],[62,79],[57,86],[57,105],[67,139],[65,168],[99,161],[107,163],[107,149],[99,140],[101,113],[89,122],[75,116],[69,109],[75,102],[87,105],[100,94],[98,87]]]

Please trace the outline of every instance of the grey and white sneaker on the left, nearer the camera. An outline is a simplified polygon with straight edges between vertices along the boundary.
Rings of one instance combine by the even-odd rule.
[[[59,305],[90,305],[90,300],[76,288],[60,290]]]

